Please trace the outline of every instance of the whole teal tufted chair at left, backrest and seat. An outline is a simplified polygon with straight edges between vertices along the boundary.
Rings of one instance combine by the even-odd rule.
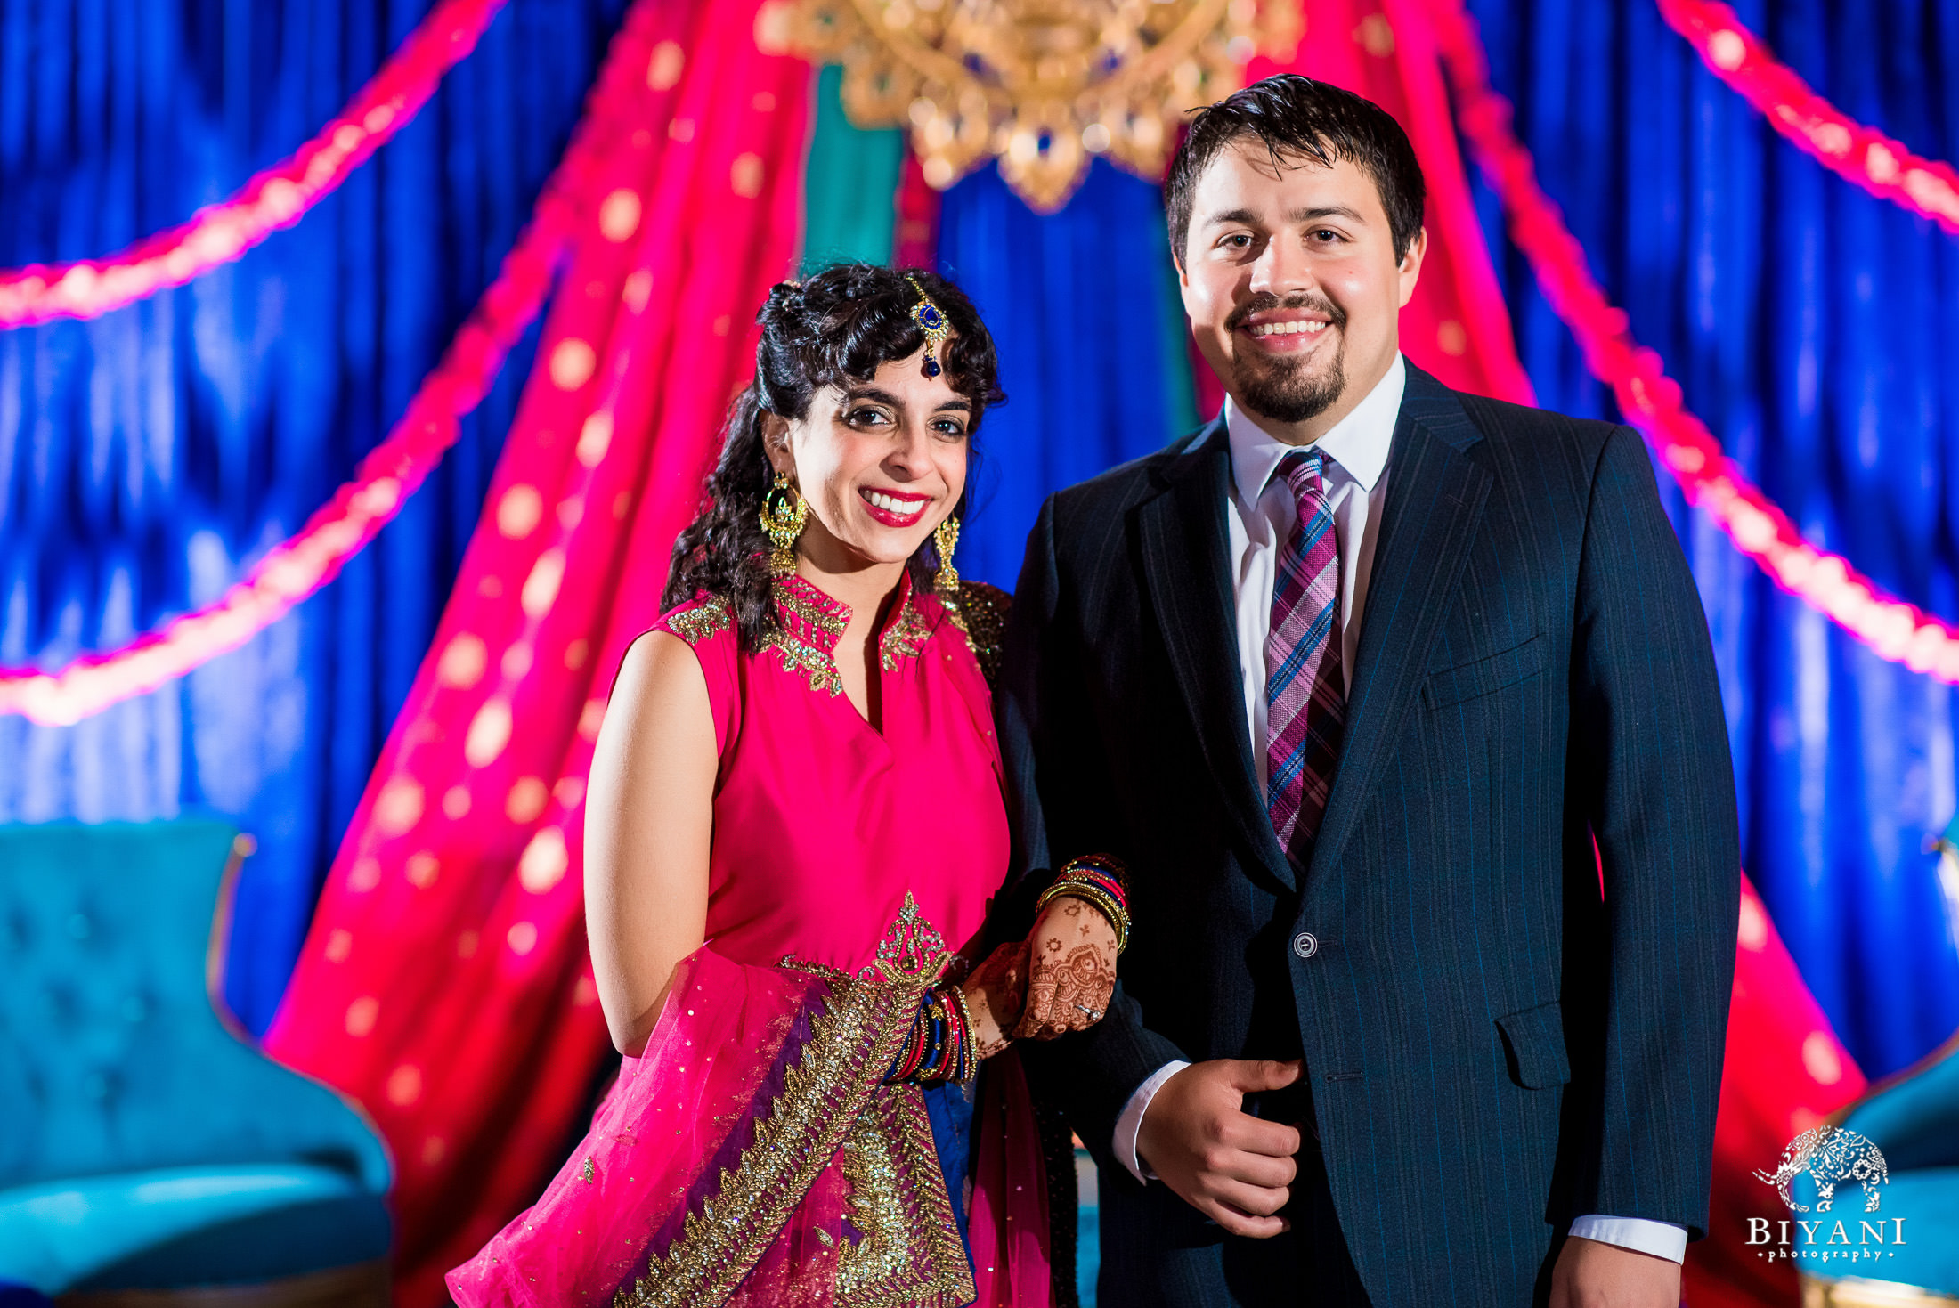
[[[247,850],[208,820],[0,826],[0,1283],[388,1302],[380,1138],[214,1008]]]

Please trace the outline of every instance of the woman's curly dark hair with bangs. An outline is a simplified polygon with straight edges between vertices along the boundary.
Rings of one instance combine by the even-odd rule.
[[[880,364],[915,354],[925,345],[925,331],[911,319],[919,304],[911,278],[952,327],[940,364],[952,390],[974,405],[968,441],[980,429],[981,413],[1005,401],[995,384],[993,337],[966,292],[936,272],[835,264],[799,284],[776,284],[756,313],[762,341],[754,347],[754,382],[729,407],[721,460],[707,478],[707,507],[674,540],[664,607],[672,609],[701,591],[723,595],[735,607],[742,648],[756,648],[774,621],[760,513],[776,470],[762,443],[762,419],[766,413],[791,423],[809,417],[809,403],[821,388],[868,382]],[[966,493],[954,507],[962,519],[978,470],[976,454],[968,444]],[[927,537],[911,556],[913,582],[929,587],[938,564],[938,550]]]

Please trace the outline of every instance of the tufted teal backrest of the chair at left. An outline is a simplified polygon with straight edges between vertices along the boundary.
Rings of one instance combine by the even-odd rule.
[[[313,1161],[386,1192],[362,1114],[219,1018],[241,856],[217,820],[0,826],[0,1189]]]

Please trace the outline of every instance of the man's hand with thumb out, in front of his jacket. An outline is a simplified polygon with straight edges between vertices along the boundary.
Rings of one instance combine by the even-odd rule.
[[[1244,1112],[1252,1091],[1299,1081],[1299,1061],[1191,1063],[1156,1093],[1136,1132],[1142,1161],[1197,1212],[1232,1236],[1269,1239],[1291,1222],[1275,1216],[1291,1196],[1299,1128]]]

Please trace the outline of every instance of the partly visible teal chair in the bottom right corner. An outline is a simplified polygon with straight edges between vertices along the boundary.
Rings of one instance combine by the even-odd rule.
[[[1814,1241],[1796,1236],[1804,1308],[1959,1308],[1959,1036],[1869,1089],[1834,1120],[1883,1151],[1890,1179],[1879,1187],[1877,1212],[1865,1212],[1861,1185],[1840,1185],[1822,1214],[1810,1177],[1791,1187],[1810,1212],[1789,1216],[1816,1222]],[[1892,1238],[1885,1245],[1863,1230],[1879,1218]],[[1832,1247],[1838,1220],[1843,1238],[1859,1241],[1855,1249],[1843,1241]],[[1904,1243],[1896,1243],[1898,1232]],[[1841,1261],[1845,1251],[1853,1261]]]

